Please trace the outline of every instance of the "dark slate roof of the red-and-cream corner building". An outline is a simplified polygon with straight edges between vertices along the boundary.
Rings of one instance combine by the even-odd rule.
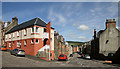
[[[37,18],[31,19],[29,21],[23,22],[22,24],[19,24],[19,25],[13,27],[11,30],[6,32],[6,34],[12,33],[12,32],[27,28],[27,27],[31,27],[34,25],[46,27],[47,24],[44,21],[42,21],[40,18],[37,17]],[[52,29],[54,29],[54,28],[52,28]]]

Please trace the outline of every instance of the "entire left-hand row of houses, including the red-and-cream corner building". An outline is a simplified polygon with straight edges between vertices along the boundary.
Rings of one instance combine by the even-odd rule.
[[[72,52],[63,36],[54,32],[51,22],[46,23],[38,17],[21,24],[14,17],[12,22],[1,21],[0,26],[0,45],[6,46],[8,50],[22,49],[26,54],[44,60],[57,59],[60,54],[69,56]]]

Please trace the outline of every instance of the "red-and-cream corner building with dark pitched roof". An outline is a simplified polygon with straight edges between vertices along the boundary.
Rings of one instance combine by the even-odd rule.
[[[54,28],[51,27],[51,22],[46,24],[38,17],[6,32],[5,44],[9,50],[22,49],[32,56],[36,56],[38,52],[46,52],[49,56],[41,58],[54,60]]]

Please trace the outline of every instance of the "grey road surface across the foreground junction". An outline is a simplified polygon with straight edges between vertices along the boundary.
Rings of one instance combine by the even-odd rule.
[[[35,57],[36,58],[36,57]],[[118,67],[104,64],[104,61],[72,58],[69,61],[43,61],[28,57],[16,57],[9,52],[2,52],[2,67]]]

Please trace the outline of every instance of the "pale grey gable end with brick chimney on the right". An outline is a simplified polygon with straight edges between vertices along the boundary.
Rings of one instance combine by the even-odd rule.
[[[106,29],[99,36],[99,53],[104,56],[108,56],[109,53],[115,53],[120,47],[118,45],[119,33],[115,19],[107,19]]]

